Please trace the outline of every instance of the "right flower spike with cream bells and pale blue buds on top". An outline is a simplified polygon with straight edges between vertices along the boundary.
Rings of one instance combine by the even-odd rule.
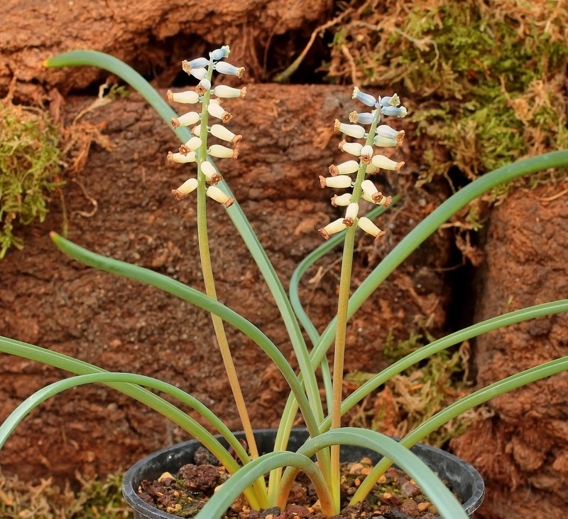
[[[406,108],[400,106],[398,95],[393,94],[389,97],[378,97],[376,99],[370,94],[361,92],[359,87],[353,90],[353,99],[361,101],[364,105],[373,108],[371,112],[351,112],[349,114],[349,123],[339,122],[335,119],[334,131],[341,132],[354,139],[366,139],[365,144],[359,142],[347,142],[342,140],[339,143],[339,149],[347,154],[359,157],[359,160],[348,160],[342,164],[332,164],[329,166],[331,176],[324,177],[320,175],[320,184],[322,188],[353,188],[352,193],[344,193],[341,196],[334,195],[332,205],[346,206],[344,218],[338,218],[328,223],[324,228],[320,229],[321,235],[327,240],[329,235],[344,230],[347,227],[356,225],[368,232],[368,234],[379,240],[386,235],[386,232],[379,229],[371,220],[361,216],[359,213],[359,200],[363,198],[368,202],[376,205],[388,207],[391,204],[391,196],[383,196],[376,186],[370,180],[364,180],[366,173],[378,173],[382,169],[396,171],[404,166],[404,162],[396,162],[388,157],[375,154],[373,146],[379,148],[395,147],[398,148],[403,144],[404,130],[395,130],[387,124],[378,124],[381,122],[381,115],[390,115],[396,117],[405,117]],[[368,132],[362,125],[371,125]],[[356,180],[352,181],[352,173],[357,173]]]

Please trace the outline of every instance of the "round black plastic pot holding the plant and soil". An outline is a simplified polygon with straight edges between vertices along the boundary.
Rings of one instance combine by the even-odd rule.
[[[261,454],[273,450],[275,436],[274,429],[259,429],[255,432],[258,451]],[[244,434],[236,433],[236,437],[243,438]],[[307,438],[308,434],[305,429],[293,429],[288,449],[290,451],[298,449]],[[141,459],[126,472],[122,493],[126,502],[134,510],[134,519],[179,519],[175,515],[153,508],[142,501],[138,497],[138,486],[143,479],[153,481],[164,472],[176,473],[181,466],[193,463],[193,454],[199,446],[200,442],[190,440],[166,447]],[[442,479],[449,481],[452,490],[463,501],[466,513],[470,518],[474,517],[475,510],[479,508],[485,496],[485,485],[479,472],[457,456],[435,447],[417,444],[413,446],[412,451]],[[375,451],[356,446],[342,446],[341,452],[343,461],[359,461],[367,456],[375,463],[381,457]]]

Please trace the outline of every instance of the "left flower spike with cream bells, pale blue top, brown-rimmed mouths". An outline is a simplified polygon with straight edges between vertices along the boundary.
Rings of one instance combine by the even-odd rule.
[[[201,103],[201,112],[187,112],[179,117],[173,117],[171,124],[173,129],[182,126],[193,126],[193,137],[185,144],[180,146],[177,153],[170,151],[168,153],[168,162],[170,164],[187,162],[197,163],[197,178],[189,178],[182,185],[173,189],[172,193],[175,198],[181,200],[192,191],[195,191],[200,185],[199,178],[202,176],[204,182],[209,183],[206,194],[209,198],[217,200],[225,207],[229,207],[234,202],[234,198],[229,197],[217,184],[222,181],[222,176],[217,172],[217,168],[213,165],[208,157],[217,157],[220,159],[236,159],[239,156],[239,149],[229,148],[224,144],[212,144],[207,146],[209,134],[225,143],[238,144],[241,135],[236,135],[224,124],[232,119],[232,115],[226,112],[222,105],[222,100],[236,97],[244,97],[246,95],[246,87],[234,88],[227,85],[217,85],[212,87],[211,80],[213,71],[219,74],[236,75],[242,77],[244,67],[236,67],[231,63],[223,61],[229,57],[229,46],[223,46],[209,53],[209,58],[196,58],[191,61],[182,62],[182,70],[199,80],[199,84],[193,90],[174,93],[168,90],[168,101],[178,102],[185,105],[197,105]],[[212,95],[214,97],[212,97]],[[220,123],[211,124],[209,126],[209,117],[219,119]]]

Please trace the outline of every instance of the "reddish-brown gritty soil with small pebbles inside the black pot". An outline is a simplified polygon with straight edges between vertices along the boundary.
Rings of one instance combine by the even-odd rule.
[[[197,453],[196,453],[197,454]],[[203,508],[216,488],[229,478],[223,466],[187,464],[173,476],[163,473],[156,481],[142,481],[138,495],[146,503],[182,518],[192,518]],[[388,469],[371,489],[367,498],[349,505],[351,496],[373,469],[370,459],[342,464],[342,511],[329,519],[436,519],[437,510],[403,471]],[[224,519],[326,519],[309,478],[300,474],[293,484],[288,505],[251,510],[241,496],[224,515]]]

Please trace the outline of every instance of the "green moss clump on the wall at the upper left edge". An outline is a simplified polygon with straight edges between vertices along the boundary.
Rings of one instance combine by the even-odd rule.
[[[41,109],[0,100],[0,259],[21,249],[14,223],[43,221],[61,169],[58,129]]]

